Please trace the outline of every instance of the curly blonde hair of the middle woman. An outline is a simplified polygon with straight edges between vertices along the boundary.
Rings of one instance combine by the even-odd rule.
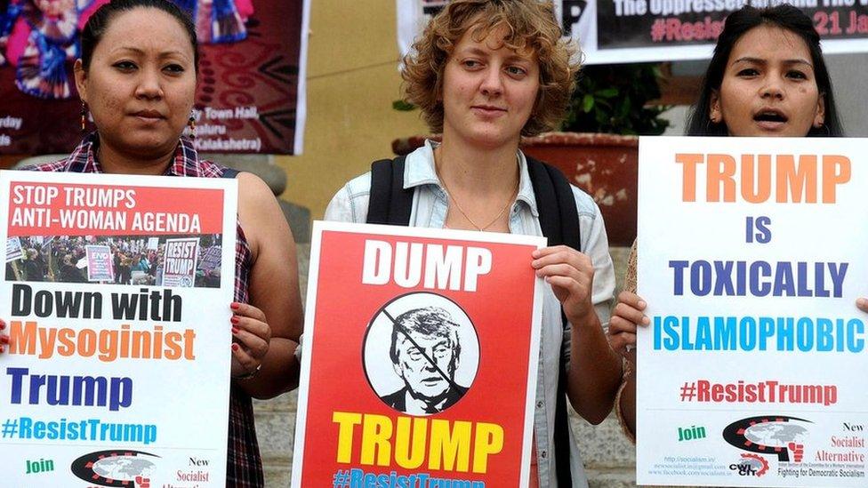
[[[481,41],[502,26],[508,30],[503,45],[517,52],[532,50],[540,65],[540,89],[521,135],[550,131],[563,120],[575,88],[579,56],[575,44],[561,38],[551,1],[454,0],[415,40],[401,72],[406,101],[422,109],[432,131],[443,131],[443,71],[455,44],[470,29]]]

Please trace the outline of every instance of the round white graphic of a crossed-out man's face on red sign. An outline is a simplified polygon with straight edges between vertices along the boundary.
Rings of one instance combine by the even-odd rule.
[[[388,358],[377,360],[372,339],[384,339],[386,329]],[[366,374],[383,403],[399,412],[429,415],[446,410],[467,393],[478,366],[478,350],[476,332],[461,308],[433,293],[412,293],[390,302],[374,317],[366,338]],[[465,362],[469,368],[462,367]],[[383,366],[390,366],[391,381],[382,378]]]

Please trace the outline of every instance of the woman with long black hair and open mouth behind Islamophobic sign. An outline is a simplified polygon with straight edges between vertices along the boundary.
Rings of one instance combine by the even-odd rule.
[[[729,14],[687,120],[687,135],[834,137],[842,132],[820,36],[811,19],[789,4],[745,6]],[[615,412],[624,433],[633,439],[633,347],[637,327],[650,324],[643,313],[647,304],[636,294],[635,243],[624,282],[608,333],[612,348],[627,360]],[[868,311],[868,300],[860,299],[859,306]]]

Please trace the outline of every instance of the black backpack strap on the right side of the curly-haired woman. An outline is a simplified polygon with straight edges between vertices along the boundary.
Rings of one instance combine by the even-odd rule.
[[[549,164],[525,156],[527,172],[534,185],[536,206],[540,213],[542,235],[549,238],[549,245],[566,244],[581,251],[579,234],[579,212],[575,210],[573,189],[564,173]],[[560,312],[564,330],[567,330],[567,316]],[[567,417],[567,364],[564,355],[559,354],[558,395],[555,404],[555,463],[558,485],[573,486],[570,472],[569,419]]]

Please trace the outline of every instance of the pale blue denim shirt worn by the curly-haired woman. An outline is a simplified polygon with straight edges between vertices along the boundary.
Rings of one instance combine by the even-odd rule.
[[[410,226],[443,228],[448,211],[448,198],[434,169],[436,143],[426,141],[422,148],[406,156],[404,188],[415,188],[410,212]],[[520,181],[516,202],[510,210],[510,233],[542,236],[539,212],[536,208],[534,187],[527,173],[524,154],[518,152]],[[325,210],[325,220],[365,222],[371,190],[371,173],[367,172],[350,180],[332,198]],[[599,321],[607,327],[609,309],[615,291],[615,269],[609,256],[606,228],[597,204],[591,196],[573,187],[575,207],[579,214],[582,252],[591,257],[594,265],[592,299]],[[528,258],[529,260],[530,258]],[[570,332],[564,330],[560,316],[560,303],[548,284],[543,292],[542,338],[540,340],[540,363],[536,383],[534,408],[534,438],[536,462],[539,468],[541,487],[558,486],[555,479],[554,433],[555,400],[558,390],[559,354],[569,355]],[[543,442],[544,440],[544,442]],[[584,476],[581,454],[570,432],[570,462],[574,488],[588,486]]]

